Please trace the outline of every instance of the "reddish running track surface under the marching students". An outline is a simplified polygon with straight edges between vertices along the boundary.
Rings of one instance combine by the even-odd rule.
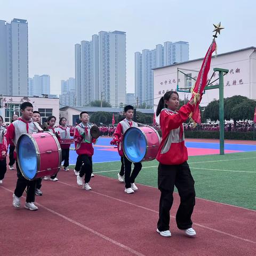
[[[156,233],[159,191],[138,185],[132,195],[117,180],[95,175],[92,191],[79,189],[73,172],[43,181],[39,210],[12,207],[15,171],[7,171],[1,194],[2,255],[254,255],[256,211],[197,199],[188,238],[171,218],[171,238]],[[177,211],[174,195],[171,215]]]

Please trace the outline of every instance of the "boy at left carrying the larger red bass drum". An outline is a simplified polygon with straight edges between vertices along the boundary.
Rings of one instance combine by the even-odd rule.
[[[20,107],[21,117],[8,126],[5,141],[4,156],[8,148],[9,141],[13,141],[14,146],[17,146],[18,139],[22,133],[33,133],[38,132],[36,125],[33,123],[33,105],[30,102],[23,102]],[[38,207],[34,204],[35,202],[35,188],[36,180],[27,180],[22,176],[19,165],[16,162],[17,169],[17,185],[13,193],[13,206],[15,208],[20,207],[20,198],[27,187],[27,198],[25,208],[30,211],[35,211]]]

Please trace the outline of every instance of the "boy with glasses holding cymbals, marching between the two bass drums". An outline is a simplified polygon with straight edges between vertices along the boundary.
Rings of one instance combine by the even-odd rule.
[[[83,186],[85,190],[91,190],[92,188],[89,185],[89,181],[92,174],[92,155],[94,153],[92,143],[95,143],[96,140],[92,138],[90,134],[91,126],[88,124],[89,114],[86,111],[81,112],[80,119],[82,122],[76,126],[74,141],[78,155],[77,162],[83,163],[83,165],[80,170],[78,169],[79,174],[77,175],[76,182],[79,186]]]

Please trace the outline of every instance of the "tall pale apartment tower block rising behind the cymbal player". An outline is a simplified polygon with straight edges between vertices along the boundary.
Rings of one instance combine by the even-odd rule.
[[[126,34],[100,31],[91,41],[75,45],[77,106],[105,100],[113,107],[125,103]]]

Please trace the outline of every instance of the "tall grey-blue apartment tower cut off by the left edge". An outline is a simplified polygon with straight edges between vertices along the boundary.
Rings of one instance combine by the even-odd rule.
[[[0,94],[28,96],[27,20],[0,20]]]

